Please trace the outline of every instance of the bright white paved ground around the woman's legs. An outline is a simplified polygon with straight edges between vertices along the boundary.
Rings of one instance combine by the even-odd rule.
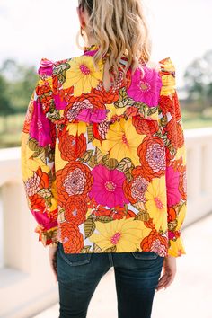
[[[155,293],[152,318],[212,318],[211,227],[212,214],[182,231],[187,254],[178,258],[178,272],[172,285]],[[58,309],[58,304],[53,305],[34,318],[57,318]],[[113,269],[95,290],[87,316],[109,317],[117,318]]]

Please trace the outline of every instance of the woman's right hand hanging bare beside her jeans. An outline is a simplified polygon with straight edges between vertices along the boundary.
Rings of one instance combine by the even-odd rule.
[[[156,291],[170,286],[170,284],[172,284],[172,281],[176,275],[176,271],[177,271],[176,257],[170,256],[170,255],[168,255],[167,257],[164,257],[163,275],[158,281]]]

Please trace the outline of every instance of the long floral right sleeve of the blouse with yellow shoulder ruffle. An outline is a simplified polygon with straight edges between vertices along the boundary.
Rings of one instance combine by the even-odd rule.
[[[170,57],[159,63],[163,82],[159,112],[166,153],[168,254],[178,257],[186,253],[181,238],[181,225],[187,211],[186,147],[181,106],[175,88],[175,68]]]

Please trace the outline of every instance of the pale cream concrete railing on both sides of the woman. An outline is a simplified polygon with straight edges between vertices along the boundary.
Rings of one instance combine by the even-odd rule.
[[[212,211],[212,128],[185,130],[188,210],[182,227]],[[26,318],[58,301],[48,249],[22,185],[20,148],[0,150],[0,317]]]

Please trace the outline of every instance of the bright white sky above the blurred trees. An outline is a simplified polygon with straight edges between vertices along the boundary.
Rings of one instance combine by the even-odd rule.
[[[81,55],[77,0],[0,0],[0,64],[6,58],[39,66],[46,57]],[[212,49],[211,0],[144,0],[152,38],[153,61],[170,57],[176,84],[183,86],[186,66]],[[83,42],[82,42],[83,45]]]

